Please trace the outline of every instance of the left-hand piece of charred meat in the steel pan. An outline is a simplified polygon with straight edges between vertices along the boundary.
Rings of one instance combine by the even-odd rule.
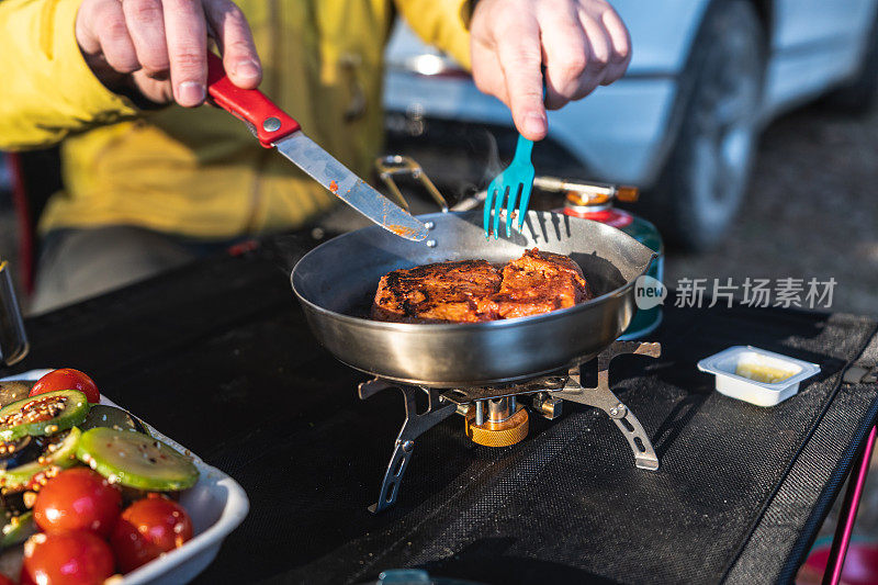
[[[394,270],[381,278],[372,318],[397,323],[480,322],[497,318],[485,299],[500,274],[485,260],[439,262]]]

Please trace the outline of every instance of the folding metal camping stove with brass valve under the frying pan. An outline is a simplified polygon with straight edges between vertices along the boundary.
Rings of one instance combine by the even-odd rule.
[[[533,379],[500,386],[470,386],[432,389],[407,385],[375,378],[359,386],[360,400],[367,400],[386,389],[398,389],[405,400],[405,421],[394,443],[384,480],[381,482],[378,503],[369,509],[383,511],[396,503],[399,484],[415,450],[415,440],[453,414],[464,417],[466,436],[486,447],[508,447],[528,435],[528,409],[553,420],[561,416],[563,401],[576,402],[600,408],[612,419],[628,441],[634,455],[634,465],[655,471],[658,458],[649,435],[637,416],[612,393],[609,386],[609,364],[617,356],[633,353],[657,358],[661,344],[616,341],[597,357],[597,385],[582,384],[579,365],[566,372],[540,375]],[[426,393],[427,409],[417,412],[417,397]]]

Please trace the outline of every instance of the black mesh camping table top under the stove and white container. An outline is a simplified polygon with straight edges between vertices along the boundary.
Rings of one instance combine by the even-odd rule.
[[[473,445],[453,416],[417,441],[397,506],[372,515],[402,398],[360,402],[367,376],[309,334],[289,270],[313,244],[270,240],[27,322],[16,370],[90,373],[247,491],[248,518],[199,583],[358,583],[391,567],[485,583],[790,581],[878,413],[874,384],[841,381],[875,361],[873,320],[667,306],[651,336],[662,357],[611,370],[657,472],[637,470],[595,409],[531,416],[503,449]],[[695,363],[742,344],[822,371],[779,406],[733,401]]]

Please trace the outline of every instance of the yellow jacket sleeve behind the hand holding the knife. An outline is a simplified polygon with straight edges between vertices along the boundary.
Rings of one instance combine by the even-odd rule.
[[[74,26],[81,0],[0,1],[0,149],[49,146],[138,114],[89,69]]]

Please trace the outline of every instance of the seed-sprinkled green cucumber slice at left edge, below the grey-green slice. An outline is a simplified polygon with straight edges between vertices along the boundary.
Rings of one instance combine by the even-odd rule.
[[[54,435],[79,425],[89,412],[86,395],[77,390],[46,392],[0,408],[0,440],[25,435]]]

